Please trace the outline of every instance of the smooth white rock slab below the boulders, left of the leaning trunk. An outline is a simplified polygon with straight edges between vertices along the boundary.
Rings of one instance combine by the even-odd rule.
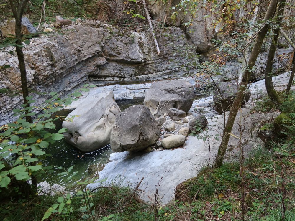
[[[213,126],[220,121],[223,121],[223,118],[219,115],[209,124]],[[212,157],[219,146],[219,141],[213,138],[218,132],[218,130],[210,132]],[[145,177],[140,189],[145,190],[142,192],[142,199],[149,201],[155,194],[155,186],[163,177],[159,187],[159,199],[161,203],[166,204],[173,199],[175,187],[195,177],[198,174],[196,168],[200,169],[208,159],[209,144],[194,136],[189,136],[183,148],[150,153],[113,153],[109,159],[111,162],[99,172],[99,180],[107,179],[106,183],[109,183],[111,180],[118,180],[119,174],[124,179],[123,185],[135,187],[140,179]],[[88,187],[95,188],[98,185],[101,183],[89,184]]]

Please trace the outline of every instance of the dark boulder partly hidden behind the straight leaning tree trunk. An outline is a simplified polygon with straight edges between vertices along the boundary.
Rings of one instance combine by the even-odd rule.
[[[235,81],[219,82],[217,84],[217,90],[215,90],[213,94],[214,109],[219,113],[228,111],[235,99],[237,90],[238,86]],[[250,96],[250,91],[247,91],[244,94],[241,104],[244,105],[247,103]]]

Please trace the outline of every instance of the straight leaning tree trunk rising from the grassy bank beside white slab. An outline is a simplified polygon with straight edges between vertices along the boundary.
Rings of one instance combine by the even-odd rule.
[[[226,152],[228,141],[230,139],[230,133],[232,131],[232,126],[234,125],[235,118],[237,116],[237,112],[240,108],[241,100],[244,96],[244,91],[246,90],[247,85],[248,85],[248,81],[249,81],[249,78],[251,75],[250,71],[252,70],[252,67],[255,65],[255,62],[256,62],[258,54],[260,52],[260,48],[262,46],[263,40],[264,40],[265,35],[269,29],[269,24],[267,23],[267,21],[273,17],[273,15],[276,11],[276,5],[277,5],[276,0],[271,0],[269,2],[269,6],[268,6],[268,9],[267,9],[265,17],[264,17],[265,25],[260,29],[260,31],[257,34],[257,37],[254,42],[254,46],[252,48],[252,51],[251,51],[251,54],[250,54],[250,57],[248,60],[247,68],[245,69],[245,72],[242,77],[242,81],[240,83],[240,88],[239,88],[239,90],[236,94],[235,100],[233,101],[232,106],[230,108],[230,115],[228,116],[225,128],[223,130],[222,141],[221,141],[221,144],[218,148],[218,153],[215,158],[215,162],[212,165],[214,168],[220,167],[222,164],[223,156]]]

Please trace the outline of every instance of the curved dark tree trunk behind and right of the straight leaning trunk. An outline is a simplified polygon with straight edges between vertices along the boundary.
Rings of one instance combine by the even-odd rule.
[[[282,100],[278,96],[278,93],[276,92],[273,81],[272,81],[272,70],[273,70],[273,59],[276,52],[276,45],[278,44],[278,36],[280,34],[280,26],[284,15],[284,8],[285,8],[286,0],[280,0],[278,5],[278,14],[276,22],[274,23],[277,25],[277,27],[273,30],[273,39],[271,41],[271,46],[268,51],[268,57],[266,62],[266,70],[265,70],[265,86],[266,91],[271,99],[271,101],[275,105],[280,105],[282,103]]]

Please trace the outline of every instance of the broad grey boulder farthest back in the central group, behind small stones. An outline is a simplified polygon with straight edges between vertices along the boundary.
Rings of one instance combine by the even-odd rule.
[[[154,116],[168,113],[170,108],[188,112],[193,104],[193,86],[185,80],[162,80],[152,83],[143,104]]]

